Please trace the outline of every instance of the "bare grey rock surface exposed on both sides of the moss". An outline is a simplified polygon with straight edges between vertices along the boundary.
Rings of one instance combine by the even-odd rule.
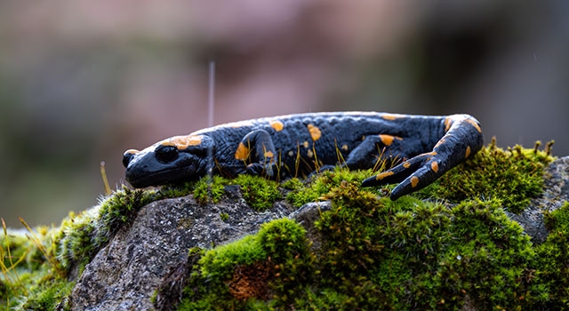
[[[533,199],[520,214],[508,215],[533,241],[541,242],[548,235],[543,211],[553,211],[568,200],[569,156],[549,165],[541,197]],[[157,288],[169,283],[181,289],[192,265],[188,249],[228,243],[257,232],[262,223],[272,219],[299,221],[307,229],[313,250],[318,251],[322,236],[313,224],[330,208],[329,202],[309,203],[294,211],[290,204],[278,201],[268,211],[253,211],[238,186],[226,187],[222,200],[215,204],[196,203],[191,195],[150,203],[84,268],[68,302],[73,310],[153,309],[151,297]],[[167,301],[158,309],[169,309]]]

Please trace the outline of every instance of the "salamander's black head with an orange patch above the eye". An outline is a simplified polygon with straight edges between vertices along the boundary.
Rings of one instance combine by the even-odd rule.
[[[126,150],[125,178],[132,187],[148,187],[204,176],[207,150],[212,147],[211,138],[188,135],[159,141],[141,151]]]

